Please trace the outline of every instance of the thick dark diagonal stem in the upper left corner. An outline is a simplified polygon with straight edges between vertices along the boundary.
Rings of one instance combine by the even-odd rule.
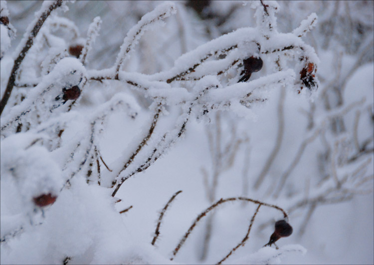
[[[62,4],[62,0],[56,0],[56,1],[54,1],[48,7],[48,9],[45,12],[43,12],[41,14],[41,16],[39,17],[38,21],[36,22],[36,24],[34,25],[33,29],[31,30],[31,32],[30,32],[30,34],[28,36],[28,39],[26,41],[26,44],[24,45],[23,49],[19,53],[18,57],[14,60],[13,69],[11,70],[11,73],[10,73],[10,76],[9,76],[9,80],[8,80],[8,84],[6,85],[5,93],[4,93],[3,97],[1,98],[1,102],[0,102],[0,116],[1,116],[2,110],[4,109],[6,103],[8,102],[8,99],[10,97],[11,91],[12,91],[12,89],[14,87],[15,78],[16,78],[16,75],[17,75],[18,68],[21,65],[24,57],[26,56],[27,51],[31,48],[31,46],[33,44],[34,37],[39,32],[39,30],[40,30],[41,26],[43,25],[45,19],[47,19],[47,17],[50,15],[50,13],[54,9],[56,9],[59,6],[61,6],[61,4]]]

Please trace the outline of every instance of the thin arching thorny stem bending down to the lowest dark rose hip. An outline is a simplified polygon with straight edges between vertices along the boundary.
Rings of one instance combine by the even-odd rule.
[[[216,203],[214,203],[213,205],[209,206],[208,208],[206,208],[201,214],[199,214],[197,216],[197,218],[195,219],[195,221],[193,222],[193,224],[189,227],[189,229],[187,230],[185,236],[181,239],[181,241],[179,242],[178,246],[174,249],[173,251],[173,257],[170,258],[171,261],[174,260],[175,256],[177,255],[177,253],[180,251],[181,247],[183,246],[183,244],[186,242],[189,234],[192,232],[193,228],[196,226],[197,222],[200,221],[204,216],[206,216],[207,213],[209,213],[211,210],[213,210],[215,207],[217,207],[218,205],[220,204],[223,204],[223,203],[226,203],[226,202],[233,202],[233,201],[245,201],[245,202],[252,202],[254,204],[258,204],[258,205],[263,205],[263,206],[266,206],[266,207],[270,207],[270,208],[274,208],[274,209],[277,209],[279,211],[281,211],[283,213],[283,217],[287,220],[288,219],[288,215],[287,213],[280,207],[276,206],[276,205],[272,205],[272,204],[267,204],[267,203],[263,203],[263,202],[260,202],[260,201],[257,201],[257,200],[253,200],[253,199],[250,199],[250,198],[245,198],[245,197],[232,197],[232,198],[227,198],[227,199],[220,199],[219,201],[217,201]]]

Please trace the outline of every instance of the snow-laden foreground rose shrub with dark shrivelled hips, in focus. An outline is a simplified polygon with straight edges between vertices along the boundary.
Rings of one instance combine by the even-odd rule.
[[[74,4],[69,6],[74,8]],[[184,137],[191,120],[214,124],[219,113],[253,118],[274,91],[287,90],[305,99],[317,90],[320,61],[314,48],[302,38],[316,25],[317,15],[312,13],[292,32],[281,33],[276,21],[280,8],[277,2],[251,1],[248,6],[253,12],[253,27],[238,28],[189,51],[187,47],[193,45],[185,40],[188,45],[181,47],[184,54],[173,60],[171,67],[162,62],[152,67],[148,60],[167,60],[162,56],[168,53],[152,54],[155,48],[144,47],[142,42],[147,34],[160,42],[171,31],[161,28],[171,22],[164,20],[173,15],[180,21],[174,27],[180,28],[181,38],[192,31],[188,22],[182,25],[188,17],[185,7],[170,1],[158,4],[128,30],[121,47],[117,47],[113,65],[106,69],[90,64],[94,44],[100,31],[105,31],[98,16],[82,37],[73,21],[57,13],[59,9],[68,11],[65,1],[44,1],[13,49],[10,40],[15,30],[1,20],[1,263],[173,264],[169,259],[174,260],[199,221],[226,202],[250,203],[257,208],[244,239],[222,257],[216,257],[219,264],[229,257],[239,264],[276,263],[286,253],[305,253],[298,245],[276,250],[267,247],[287,234],[276,229],[266,247],[261,249],[264,243],[258,244],[257,253],[233,260],[231,255],[250,239],[260,207],[261,211],[279,212],[268,219],[272,224],[274,218],[288,222],[288,214],[274,202],[257,198],[218,200],[214,185],[207,188],[211,206],[192,220],[185,235],[178,235],[182,239],[170,257],[148,246],[150,242],[138,240],[126,226],[120,214],[132,206],[119,213],[115,208],[115,203],[121,201],[115,196],[122,185],[171,150]],[[1,1],[3,16],[11,17],[5,1]],[[150,43],[152,38],[146,45]],[[142,55],[137,55],[139,50]],[[253,65],[254,61],[258,64]],[[139,68],[137,65],[147,71],[132,70]],[[305,136],[305,141],[316,137],[326,120],[344,111],[342,107],[331,111],[325,120],[316,121],[318,126]],[[106,163],[103,135],[116,130],[108,126],[113,119],[122,124],[124,142],[113,150],[119,154],[116,159]],[[342,157],[345,152],[340,150],[346,145],[343,137],[339,139],[334,157],[339,158],[338,164],[344,164],[352,158]],[[234,141],[237,144],[228,145],[229,159],[217,158],[217,165],[229,168],[237,145],[245,141],[243,137]],[[272,191],[275,197],[280,195],[287,174]],[[256,188],[265,175],[259,176]],[[338,178],[334,173],[330,181],[345,184]],[[333,190],[321,188],[321,193],[336,195],[341,191],[338,184]],[[178,194],[166,204],[165,211]],[[321,196],[315,198],[315,203]],[[321,200],[328,201],[325,197]],[[302,203],[310,202],[297,201],[294,208]],[[289,211],[293,210],[291,207]],[[152,245],[160,235],[165,211],[152,235]]]

